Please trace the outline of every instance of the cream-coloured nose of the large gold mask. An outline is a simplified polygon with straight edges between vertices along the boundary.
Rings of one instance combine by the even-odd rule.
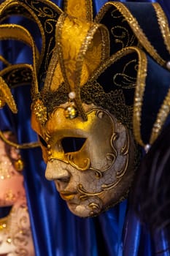
[[[57,159],[53,159],[47,162],[45,170],[45,178],[49,181],[69,181],[70,174],[66,170],[66,163],[61,162]]]

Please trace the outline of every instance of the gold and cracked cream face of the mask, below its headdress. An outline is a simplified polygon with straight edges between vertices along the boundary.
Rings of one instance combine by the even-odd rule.
[[[134,175],[134,142],[128,129],[107,110],[83,107],[88,116],[85,122],[80,117],[66,118],[67,104],[55,108],[45,133],[40,134],[47,145],[42,137],[40,141],[46,178],[55,181],[72,213],[89,217],[126,196]]]

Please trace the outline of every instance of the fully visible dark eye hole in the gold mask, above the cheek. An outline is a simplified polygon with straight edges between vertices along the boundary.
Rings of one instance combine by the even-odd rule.
[[[79,151],[85,143],[86,138],[66,137],[61,140],[64,153]]]

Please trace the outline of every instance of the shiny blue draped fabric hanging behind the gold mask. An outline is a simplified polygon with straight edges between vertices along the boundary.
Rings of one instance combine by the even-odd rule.
[[[98,12],[107,0],[94,0]],[[53,0],[62,7],[62,0]],[[123,1],[125,2],[125,0]],[[134,1],[136,2],[136,1]],[[143,1],[144,2],[144,1]],[[153,2],[153,1],[152,1]],[[158,0],[170,20],[170,1]],[[22,23],[22,19],[19,20]],[[29,24],[27,24],[29,26]],[[37,42],[39,37],[37,35]],[[15,42],[1,43],[1,50],[13,63],[31,62],[28,48]],[[14,91],[18,115],[0,111],[1,129],[12,129],[20,143],[35,141],[30,124],[30,86]],[[39,148],[22,151],[23,172],[36,256],[151,256],[170,255],[164,233],[151,238],[124,200],[104,214],[81,219],[69,212],[52,181],[45,179],[45,164]]]

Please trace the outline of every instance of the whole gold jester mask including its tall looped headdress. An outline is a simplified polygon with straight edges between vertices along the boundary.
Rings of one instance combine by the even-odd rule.
[[[7,80],[12,73],[23,78],[22,84],[28,80],[20,75],[22,69],[31,74],[31,123],[47,162],[46,177],[55,180],[61,197],[80,217],[99,214],[127,195],[138,155],[132,135],[145,146],[140,123],[149,62],[142,48],[158,64],[166,64],[123,3],[108,2],[94,21],[92,5],[91,0],[66,0],[63,12],[50,1],[7,0],[0,8],[2,18],[8,8],[18,14],[24,10],[39,26],[40,54],[26,29],[1,25],[0,39],[19,37],[31,46],[33,65],[11,65],[0,78]],[[159,15],[161,7],[153,7]],[[120,38],[122,33],[115,37],[105,15],[116,20],[112,25],[122,19],[128,42]],[[159,20],[161,31],[164,23]],[[161,111],[162,123],[167,109]],[[153,131],[150,144],[160,130]]]

